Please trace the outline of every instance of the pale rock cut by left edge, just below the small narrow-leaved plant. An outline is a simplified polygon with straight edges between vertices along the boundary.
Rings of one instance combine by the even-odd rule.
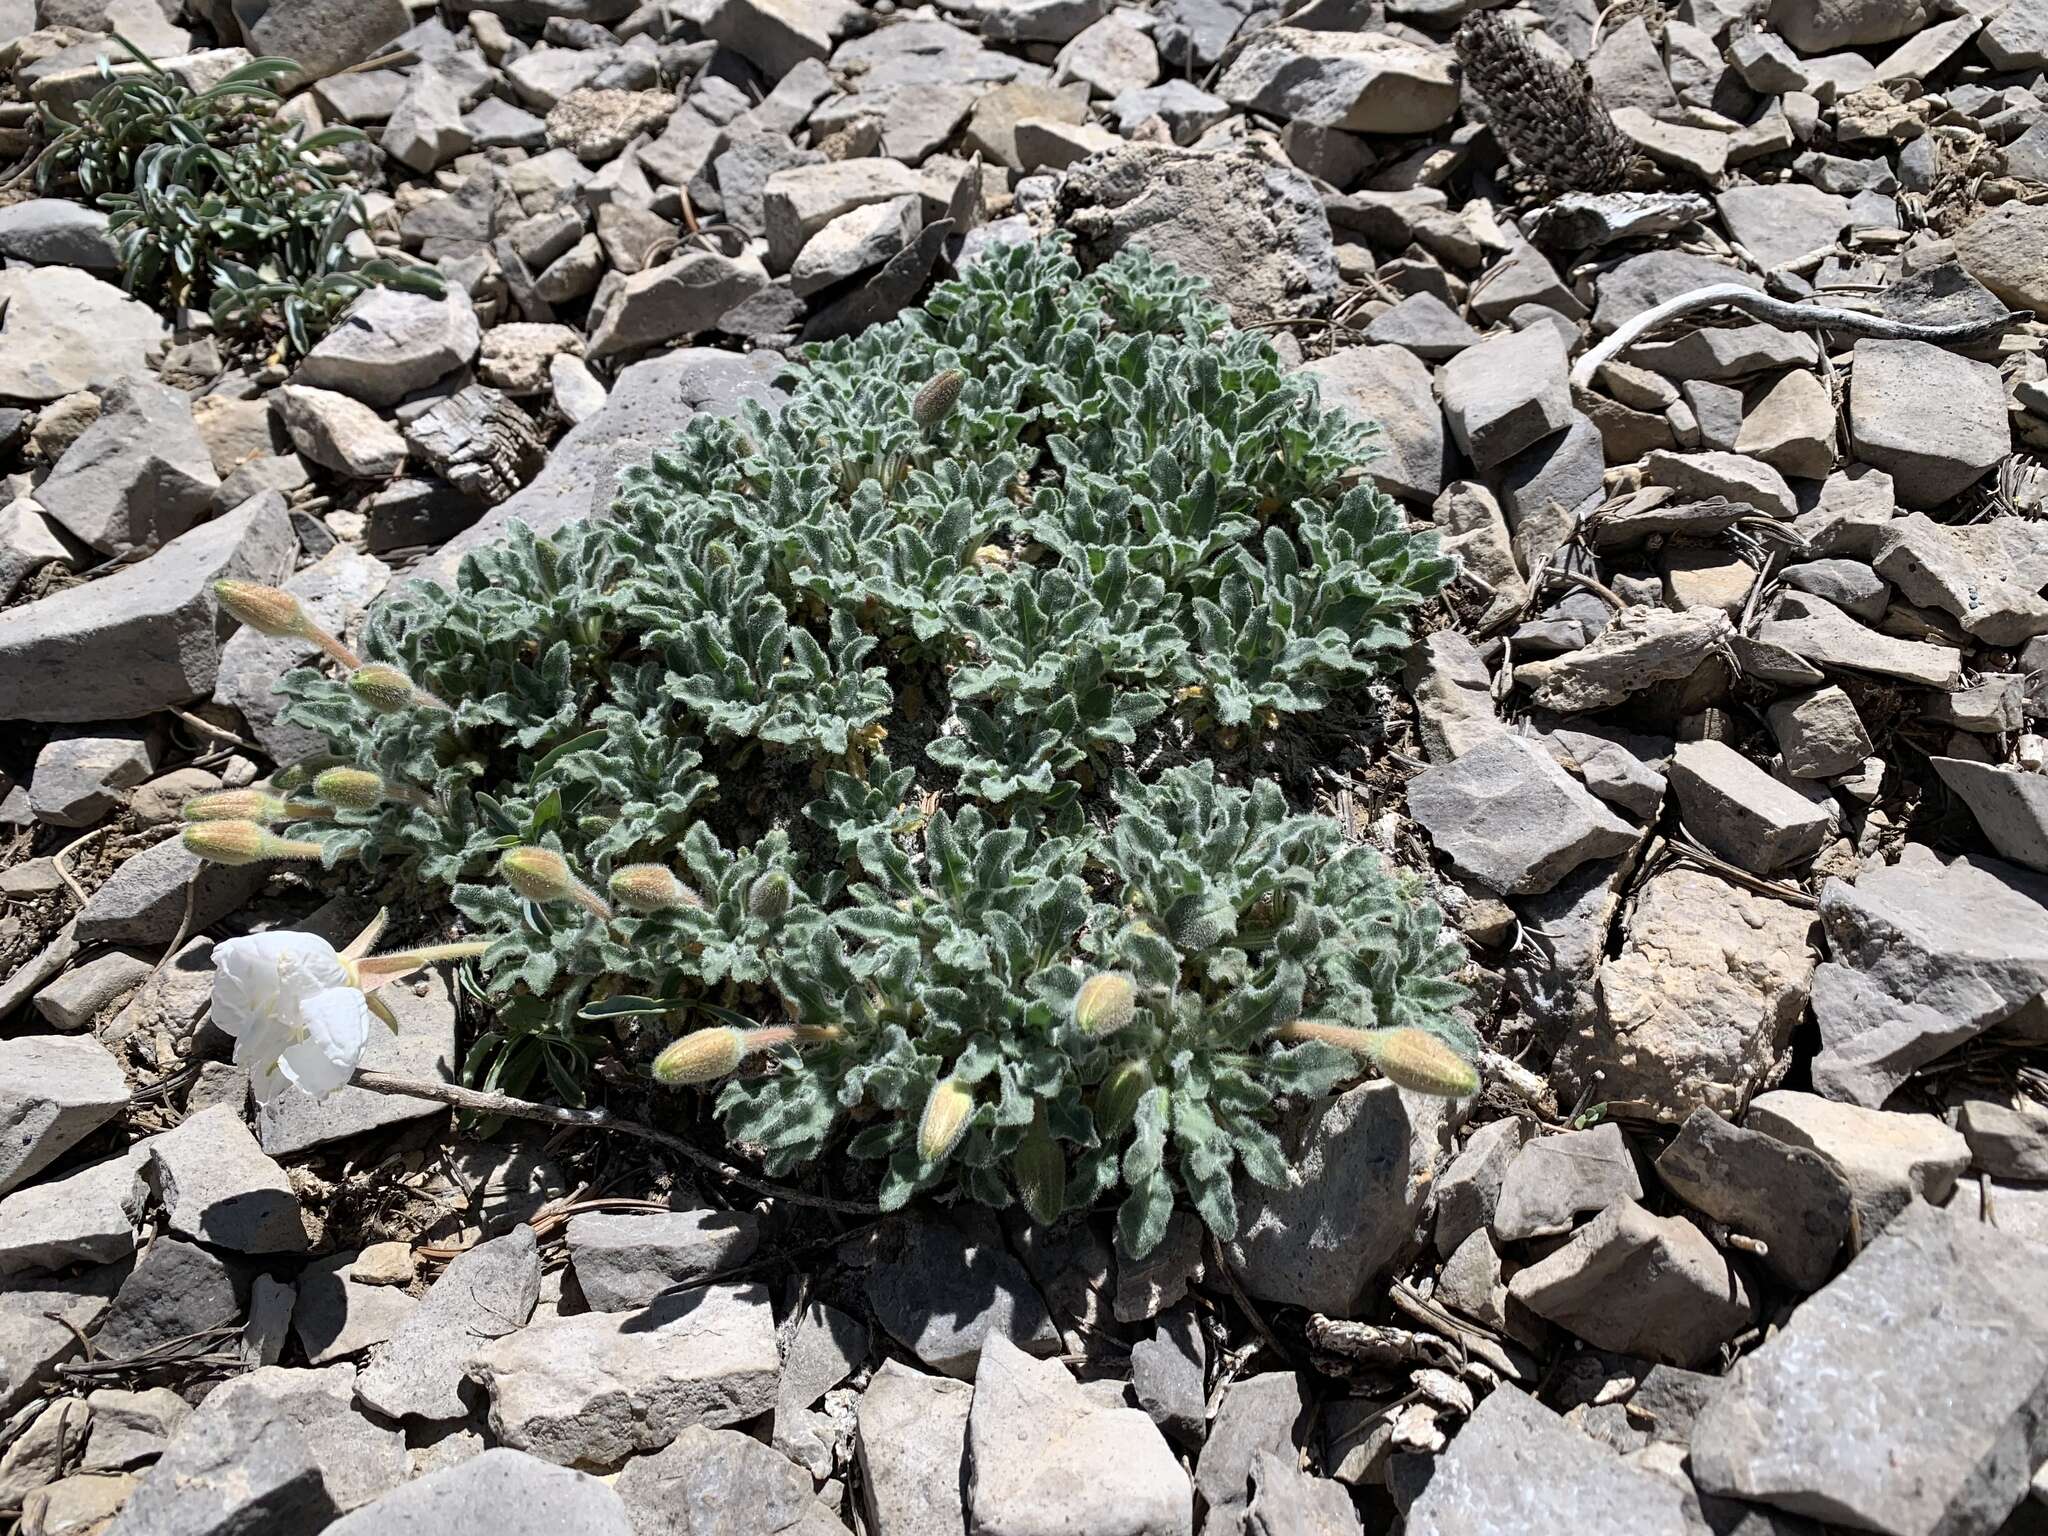
[[[154,309],[90,272],[0,272],[0,399],[39,406],[92,383],[143,379],[168,330]]]

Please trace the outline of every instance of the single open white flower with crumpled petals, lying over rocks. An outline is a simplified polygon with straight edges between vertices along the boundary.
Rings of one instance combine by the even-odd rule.
[[[297,1083],[342,1087],[371,1038],[371,1006],[334,946],[313,934],[252,934],[213,946],[213,1022],[236,1036],[258,1102]]]

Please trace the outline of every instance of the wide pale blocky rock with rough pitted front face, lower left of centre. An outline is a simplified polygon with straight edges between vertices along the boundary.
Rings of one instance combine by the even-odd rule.
[[[635,1313],[537,1321],[485,1343],[471,1374],[492,1395],[502,1444],[563,1466],[614,1466],[692,1423],[766,1413],[778,1366],[766,1286],[705,1286]]]

